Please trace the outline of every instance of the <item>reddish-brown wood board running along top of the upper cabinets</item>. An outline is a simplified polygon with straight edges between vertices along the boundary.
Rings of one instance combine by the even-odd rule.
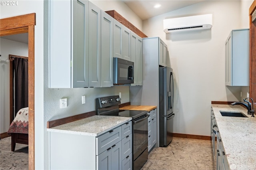
[[[134,32],[135,34],[137,34],[141,38],[147,38],[148,37],[142,31],[140,31],[136,26],[134,26],[132,23],[130,23],[128,20],[126,20],[123,16],[118,14],[118,12],[116,12],[115,10],[105,11],[105,12],[108,15],[112,16],[114,19],[116,19],[118,22],[120,22],[121,24],[123,24],[124,26],[126,26],[127,28],[132,30],[132,32]]]

